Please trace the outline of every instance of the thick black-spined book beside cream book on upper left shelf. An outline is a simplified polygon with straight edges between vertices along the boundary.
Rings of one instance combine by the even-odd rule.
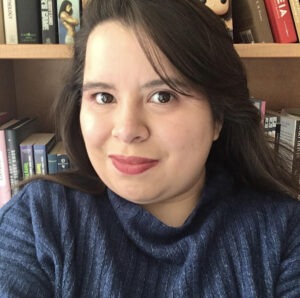
[[[19,43],[41,43],[41,13],[39,0],[16,0]]]

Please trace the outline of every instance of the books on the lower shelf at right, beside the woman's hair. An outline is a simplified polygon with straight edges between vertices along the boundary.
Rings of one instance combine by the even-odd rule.
[[[300,109],[266,109],[266,101],[251,97],[260,110],[270,145],[287,161],[287,167],[299,184],[300,194]]]

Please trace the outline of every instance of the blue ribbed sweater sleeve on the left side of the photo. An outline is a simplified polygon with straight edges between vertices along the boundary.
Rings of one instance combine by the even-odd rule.
[[[53,297],[51,283],[37,256],[29,196],[30,192],[22,191],[0,209],[2,298]]]

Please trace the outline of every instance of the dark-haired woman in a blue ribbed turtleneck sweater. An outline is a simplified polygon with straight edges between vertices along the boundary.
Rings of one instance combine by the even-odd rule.
[[[199,1],[91,1],[55,106],[76,168],[2,208],[0,296],[298,297],[300,203],[248,96]]]

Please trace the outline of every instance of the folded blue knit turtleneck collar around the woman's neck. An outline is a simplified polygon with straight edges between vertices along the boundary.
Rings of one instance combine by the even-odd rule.
[[[139,249],[160,260],[181,263],[187,254],[186,239],[193,238],[201,228],[205,209],[216,204],[231,188],[230,175],[224,168],[207,167],[199,202],[180,227],[165,225],[140,205],[123,199],[110,189],[107,193],[125,233]]]

